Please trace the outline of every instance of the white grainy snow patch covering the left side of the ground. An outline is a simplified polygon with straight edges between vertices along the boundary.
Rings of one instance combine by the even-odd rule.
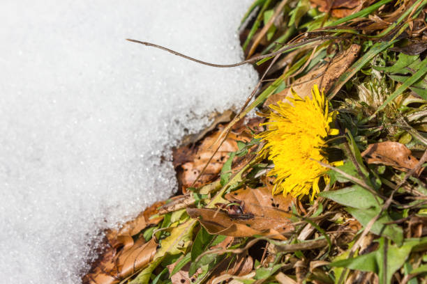
[[[171,147],[241,105],[251,0],[2,0],[0,283],[80,283],[89,245],[176,189]]]

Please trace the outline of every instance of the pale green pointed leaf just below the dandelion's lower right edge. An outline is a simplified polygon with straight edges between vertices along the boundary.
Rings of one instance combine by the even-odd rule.
[[[334,200],[341,205],[357,209],[377,208],[382,204],[382,200],[377,200],[373,194],[357,184],[345,187],[344,189],[322,191],[319,195]]]

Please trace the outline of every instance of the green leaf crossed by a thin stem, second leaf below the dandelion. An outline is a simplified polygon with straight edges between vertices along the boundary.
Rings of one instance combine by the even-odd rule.
[[[349,212],[357,219],[364,227],[368,225],[369,221],[372,220],[377,214],[380,213],[380,207],[369,208],[369,209],[357,209],[353,207],[346,207],[345,211]],[[383,212],[380,218],[373,224],[370,231],[376,235],[382,235],[392,239],[396,244],[402,244],[403,241],[403,230],[396,224],[385,225],[393,221],[387,212]]]

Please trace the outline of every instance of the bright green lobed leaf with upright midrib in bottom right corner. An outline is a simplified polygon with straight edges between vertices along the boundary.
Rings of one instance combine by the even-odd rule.
[[[385,242],[388,242],[387,246],[385,246]],[[394,272],[403,266],[412,248],[419,244],[426,244],[427,238],[405,239],[405,242],[400,247],[396,244],[391,245],[390,242],[383,237],[378,239],[378,243],[380,246],[372,253],[359,255],[356,258],[338,260],[332,262],[330,265],[331,267],[347,267],[349,269],[361,271],[372,271],[378,275],[378,283],[384,283],[384,281],[385,283],[391,283],[391,277]],[[386,258],[384,258],[384,251],[386,251]],[[387,263],[385,271],[384,263]]]

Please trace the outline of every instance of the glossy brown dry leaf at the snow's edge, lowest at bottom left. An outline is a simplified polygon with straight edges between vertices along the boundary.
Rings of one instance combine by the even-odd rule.
[[[147,266],[156,254],[157,245],[154,239],[144,242],[144,238],[141,238],[117,255],[113,256],[113,251],[108,251],[103,260],[82,278],[83,284],[119,283],[123,278]]]

